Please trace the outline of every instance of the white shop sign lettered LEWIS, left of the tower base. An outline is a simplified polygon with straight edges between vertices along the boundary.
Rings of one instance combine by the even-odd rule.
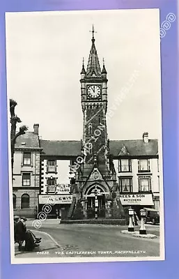
[[[72,195],[38,195],[39,204],[71,204]]]

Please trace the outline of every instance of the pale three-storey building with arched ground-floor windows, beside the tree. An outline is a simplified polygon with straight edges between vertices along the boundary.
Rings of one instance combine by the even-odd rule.
[[[40,190],[40,144],[38,124],[33,132],[17,137],[13,167],[13,209],[15,215],[32,218],[38,213]]]

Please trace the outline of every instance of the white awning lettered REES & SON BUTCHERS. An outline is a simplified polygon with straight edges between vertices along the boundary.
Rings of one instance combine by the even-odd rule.
[[[120,202],[122,205],[153,205],[152,194],[132,194],[120,195]]]

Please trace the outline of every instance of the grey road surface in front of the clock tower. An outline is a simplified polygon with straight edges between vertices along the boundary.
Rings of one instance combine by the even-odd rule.
[[[127,226],[42,223],[39,229],[27,224],[42,237],[40,250],[27,257],[159,257],[159,226],[146,225],[156,239],[138,239],[121,234]],[[139,231],[139,226],[135,230]],[[47,246],[47,239],[49,245]],[[51,241],[51,244],[50,244]],[[17,255],[21,257],[19,253]]]

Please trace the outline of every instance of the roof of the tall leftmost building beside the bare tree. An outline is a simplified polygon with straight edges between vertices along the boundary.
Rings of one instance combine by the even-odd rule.
[[[26,132],[24,135],[17,137],[15,142],[15,148],[39,148],[38,135],[33,132]]]

